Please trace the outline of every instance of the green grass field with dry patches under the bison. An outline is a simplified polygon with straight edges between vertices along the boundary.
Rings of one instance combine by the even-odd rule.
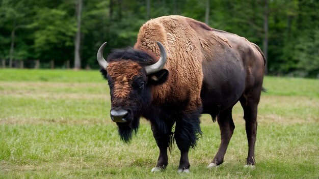
[[[319,80],[266,77],[258,111],[256,167],[244,168],[248,144],[243,111],[225,162],[207,169],[220,131],[202,115],[203,136],[190,151],[191,173],[151,173],[158,149],[141,120],[130,144],[110,119],[107,82],[96,71],[0,70],[0,178],[318,178]]]

